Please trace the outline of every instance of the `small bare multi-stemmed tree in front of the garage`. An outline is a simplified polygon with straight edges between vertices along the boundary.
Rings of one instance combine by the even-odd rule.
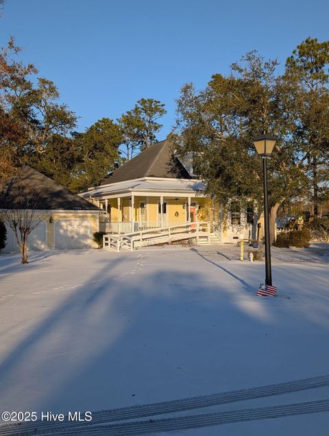
[[[29,195],[21,184],[15,185],[10,196],[6,198],[4,208],[0,209],[0,219],[14,232],[19,250],[22,255],[22,264],[28,264],[27,239],[29,234],[45,221],[50,214],[49,210],[42,210],[39,198]]]

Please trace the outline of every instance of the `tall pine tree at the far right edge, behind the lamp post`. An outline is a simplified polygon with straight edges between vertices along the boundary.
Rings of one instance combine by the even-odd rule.
[[[295,117],[295,142],[307,166],[313,192],[313,214],[318,215],[328,181],[329,151],[329,41],[306,38],[286,62],[284,76],[291,86],[288,110]]]

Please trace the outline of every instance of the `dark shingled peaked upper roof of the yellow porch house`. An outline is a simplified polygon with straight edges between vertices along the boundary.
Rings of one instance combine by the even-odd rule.
[[[168,140],[156,142],[139,155],[114,170],[101,185],[118,181],[140,179],[141,177],[168,177],[191,179],[184,166],[173,155],[173,145]]]

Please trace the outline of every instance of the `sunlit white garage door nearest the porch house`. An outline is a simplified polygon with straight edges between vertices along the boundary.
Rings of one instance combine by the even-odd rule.
[[[91,248],[93,227],[89,220],[58,220],[55,223],[55,241],[58,250]]]

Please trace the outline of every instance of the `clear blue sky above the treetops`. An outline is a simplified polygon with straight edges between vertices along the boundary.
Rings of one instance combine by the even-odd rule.
[[[183,84],[204,88],[252,49],[283,68],[307,36],[329,40],[328,16],[326,0],[7,0],[0,40],[16,38],[80,130],[145,97],[166,105],[161,140]]]

